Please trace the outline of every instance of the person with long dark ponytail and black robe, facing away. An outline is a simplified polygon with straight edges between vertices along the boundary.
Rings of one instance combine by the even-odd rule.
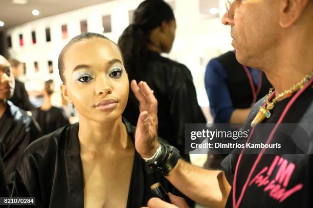
[[[198,106],[188,68],[162,57],[169,53],[175,38],[176,21],[163,0],[147,0],[139,5],[130,24],[119,38],[129,81],[145,81],[158,99],[158,135],[175,146],[185,159],[185,123],[206,123]],[[136,125],[139,102],[132,92],[123,116]]]

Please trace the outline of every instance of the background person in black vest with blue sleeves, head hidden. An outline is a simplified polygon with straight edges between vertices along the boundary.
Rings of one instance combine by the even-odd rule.
[[[269,92],[272,85],[265,73],[241,65],[235,51],[228,51],[208,63],[205,87],[214,123],[243,124],[251,107]],[[226,156],[209,152],[205,168],[220,169]]]

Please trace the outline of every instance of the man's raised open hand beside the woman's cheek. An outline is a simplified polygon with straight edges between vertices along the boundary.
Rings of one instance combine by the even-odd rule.
[[[150,158],[159,147],[158,101],[146,82],[130,83],[131,90],[140,102],[140,114],[135,134],[135,148],[144,158]]]

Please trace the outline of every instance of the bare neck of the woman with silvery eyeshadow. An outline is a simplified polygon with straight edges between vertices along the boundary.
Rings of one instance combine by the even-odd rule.
[[[80,115],[78,138],[81,146],[88,151],[133,148],[122,117],[113,122],[99,123]]]

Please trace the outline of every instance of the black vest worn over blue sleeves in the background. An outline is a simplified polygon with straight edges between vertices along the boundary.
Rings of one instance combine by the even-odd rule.
[[[233,108],[250,108],[253,104],[253,94],[249,79],[242,65],[237,61],[233,51],[229,51],[226,54],[221,55],[217,58],[217,60],[227,71],[227,83],[233,102]],[[265,96],[271,87],[271,83],[267,80],[265,73],[262,72],[262,85],[260,92],[257,94],[256,100]],[[255,87],[255,90],[257,90],[257,86]]]

